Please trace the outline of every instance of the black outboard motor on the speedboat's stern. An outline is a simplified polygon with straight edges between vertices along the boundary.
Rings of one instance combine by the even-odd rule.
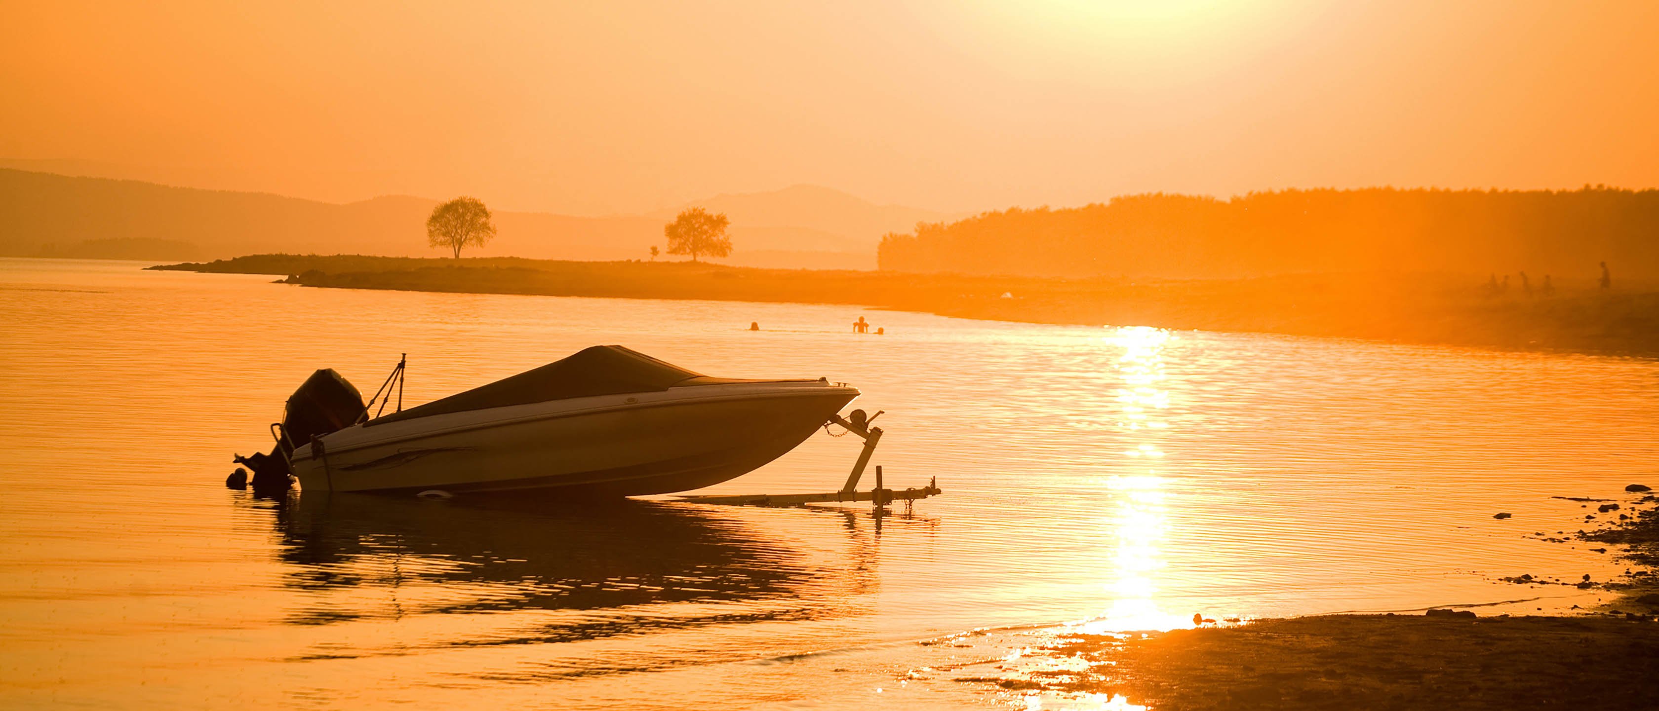
[[[363,394],[332,368],[324,368],[305,378],[305,383],[289,396],[282,409],[282,424],[277,428],[277,446],[270,454],[255,452],[251,457],[236,456],[237,464],[246,464],[254,471],[255,494],[280,494],[292,484],[289,457],[294,447],[307,444],[312,438],[340,431],[357,424],[368,414]],[[246,476],[244,476],[246,477]],[[237,474],[231,474],[226,486],[241,489]]]

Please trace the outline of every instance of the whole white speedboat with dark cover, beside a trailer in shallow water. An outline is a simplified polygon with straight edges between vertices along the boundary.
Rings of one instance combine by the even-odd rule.
[[[332,389],[319,396],[314,383]],[[302,491],[669,494],[776,459],[856,396],[828,380],[710,378],[592,346],[383,418],[367,419],[365,408],[362,421],[338,429],[285,426],[285,464]],[[343,409],[322,406],[320,414],[338,413],[319,416],[330,398]],[[353,399],[362,404],[343,378],[319,371],[289,399],[287,421],[338,423]]]

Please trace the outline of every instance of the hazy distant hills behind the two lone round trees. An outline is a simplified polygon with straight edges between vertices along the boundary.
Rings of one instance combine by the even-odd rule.
[[[423,257],[436,201],[388,196],[330,204],[259,192],[0,169],[0,255],[224,259],[255,252]],[[718,196],[693,202],[732,217],[735,265],[874,268],[884,232],[947,215],[874,206],[828,187]],[[499,234],[478,257],[615,260],[665,250],[650,215],[496,212]],[[669,259],[667,255],[659,259]]]

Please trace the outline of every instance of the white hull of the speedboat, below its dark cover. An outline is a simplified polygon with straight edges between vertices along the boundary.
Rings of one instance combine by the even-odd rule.
[[[742,383],[576,398],[375,426],[294,452],[307,491],[670,494],[747,474],[795,449],[858,396],[828,383]]]

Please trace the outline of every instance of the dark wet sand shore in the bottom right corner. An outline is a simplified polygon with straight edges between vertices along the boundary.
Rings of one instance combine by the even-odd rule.
[[[1158,709],[1651,709],[1659,623],[1611,617],[1326,615],[1150,635],[1060,635],[1065,670],[962,678]]]

